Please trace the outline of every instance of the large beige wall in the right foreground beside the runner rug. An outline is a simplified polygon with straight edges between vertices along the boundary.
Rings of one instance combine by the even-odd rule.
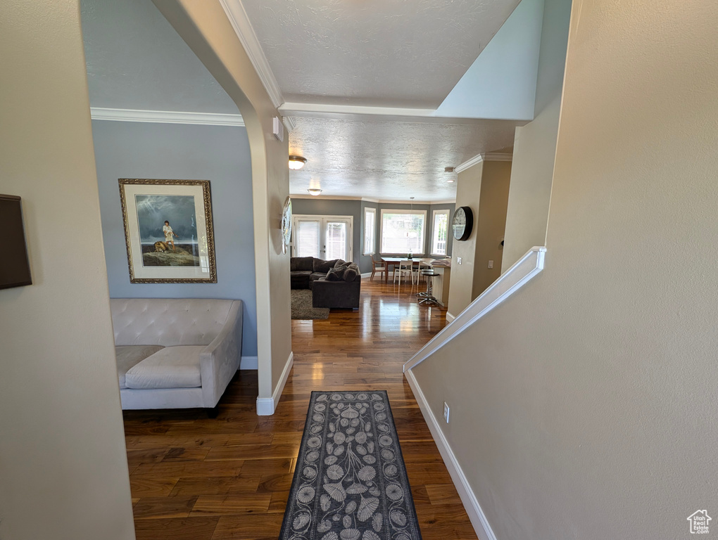
[[[546,269],[414,369],[499,540],[688,538],[712,513],[717,20],[574,2]]]

